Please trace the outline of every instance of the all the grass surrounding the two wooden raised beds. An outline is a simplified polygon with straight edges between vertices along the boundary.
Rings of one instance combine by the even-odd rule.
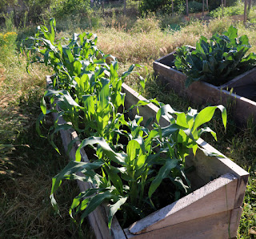
[[[73,32],[93,31],[98,34],[98,47],[105,53],[118,57],[120,73],[131,63],[148,66],[152,74],[154,59],[170,53],[177,46],[194,45],[201,35],[210,37],[216,32],[222,33],[230,26],[231,21],[181,22],[179,29],[171,30],[170,24],[178,24],[174,18],[150,17],[150,20],[126,18],[122,15],[97,18],[94,26],[88,20],[75,22],[67,19],[58,22],[58,38],[70,36]],[[159,20],[159,21],[154,21]],[[164,21],[163,21],[164,20]],[[134,24],[136,22],[136,24]],[[164,22],[165,28],[162,30]],[[171,26],[171,25],[170,25]],[[247,34],[256,50],[256,30],[236,24],[238,34]],[[16,30],[20,40],[30,35],[33,28]],[[6,30],[2,31],[5,34]],[[145,70],[139,70],[146,76]],[[0,237],[90,237],[87,224],[78,229],[68,214],[70,200],[78,193],[75,184],[66,183],[58,193],[62,217],[54,213],[49,195],[51,177],[66,165],[67,158],[59,156],[44,138],[35,133],[35,120],[40,112],[39,100],[45,88],[45,75],[50,74],[43,66],[33,66],[31,75],[26,73],[25,58],[18,58],[14,48],[3,50],[0,45]],[[187,110],[194,106],[187,99],[178,97],[174,92],[166,91],[151,77],[146,90],[146,98],[158,98],[170,103],[174,110]],[[126,81],[135,90],[141,90],[136,75]],[[248,123],[242,129],[234,125],[232,113],[229,112],[229,124],[225,133],[219,121],[214,118],[210,127],[218,132],[218,141],[211,137],[205,140],[216,149],[233,159],[242,168],[250,171],[250,180],[246,190],[242,220],[238,238],[254,238],[256,231],[256,137],[255,126]],[[50,118],[48,119],[51,120]],[[58,145],[60,142],[58,141]],[[70,196],[69,196],[70,194]]]

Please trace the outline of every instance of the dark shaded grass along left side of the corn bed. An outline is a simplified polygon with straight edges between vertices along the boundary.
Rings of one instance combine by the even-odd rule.
[[[8,106],[0,111],[2,122],[7,117],[15,121],[12,128],[8,121],[1,125],[1,136],[5,132],[9,134],[1,137],[0,142],[0,237],[94,238],[87,221],[79,229],[78,223],[71,221],[68,214],[72,199],[79,193],[75,181],[63,182],[57,193],[62,217],[50,205],[51,178],[68,159],[60,141],[56,139],[62,155],[35,131],[40,113],[39,98],[36,91],[31,91],[26,98],[20,98],[15,112]],[[3,111],[9,114],[2,114]],[[49,127],[46,125],[46,129],[42,129],[44,133]]]

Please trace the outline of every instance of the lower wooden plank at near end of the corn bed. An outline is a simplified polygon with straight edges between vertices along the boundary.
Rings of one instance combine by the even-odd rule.
[[[139,235],[130,233],[129,229],[125,229],[125,233],[128,238],[134,239],[228,239],[234,234],[230,233],[230,228],[234,228],[234,221],[230,221],[230,213],[215,213]]]

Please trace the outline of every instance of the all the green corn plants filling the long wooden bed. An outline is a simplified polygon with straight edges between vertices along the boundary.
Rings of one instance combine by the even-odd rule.
[[[67,46],[61,46],[54,43],[54,20],[51,20],[50,26],[51,33],[45,26],[39,28],[44,38],[40,38],[39,33],[36,38],[31,38],[35,43],[28,51],[29,58],[34,50],[42,54],[42,58],[38,54],[32,55],[32,58],[52,66],[55,72],[52,88],[46,90],[42,98],[38,133],[44,116],[56,113],[58,118],[50,128],[50,142],[54,148],[58,150],[53,141],[54,133],[60,129],[72,127],[82,140],[75,158],[52,180],[50,198],[54,208],[58,209],[54,193],[64,179],[90,181],[96,185],[74,198],[70,216],[82,213],[82,222],[98,205],[107,202],[109,228],[119,209],[123,211],[124,222],[126,217],[134,218],[135,215],[141,218],[156,209],[155,192],[163,180],[169,179],[174,185],[175,199],[189,193],[190,181],[186,177],[185,158],[190,150],[196,153],[196,141],[202,133],[210,132],[216,138],[216,133],[211,129],[202,128],[213,117],[216,109],[222,111],[226,127],[225,108],[212,106],[199,113],[189,109],[185,114],[156,100],[140,101],[131,106],[130,110],[149,102],[160,106],[156,115],[157,122],[153,129],[147,129],[142,126],[143,118],[139,116],[138,109],[134,119],[126,118],[127,110],[120,110],[125,102],[125,94],[121,92],[122,82],[139,65],[130,66],[129,70],[119,76],[118,62],[94,46],[96,38],[90,39],[92,34],[74,34]],[[44,43],[40,45],[38,42]],[[113,61],[107,63],[107,58]],[[140,80],[142,86],[145,86],[143,78]],[[48,110],[46,98],[50,98],[51,103]],[[162,115],[170,120],[170,125],[164,128],[159,125]],[[69,123],[60,124],[60,117]],[[121,144],[120,138],[126,139],[127,144]],[[80,150],[84,147],[94,149],[97,159],[81,161]],[[83,176],[78,176],[78,172],[83,173]]]

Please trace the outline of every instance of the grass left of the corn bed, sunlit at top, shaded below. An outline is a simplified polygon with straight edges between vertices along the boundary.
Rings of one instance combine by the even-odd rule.
[[[35,132],[49,72],[34,66],[27,74],[25,58],[12,53],[0,66],[0,238],[92,238],[86,223],[85,234],[68,214],[75,183],[58,193],[62,217],[50,205],[51,178],[67,158]]]

